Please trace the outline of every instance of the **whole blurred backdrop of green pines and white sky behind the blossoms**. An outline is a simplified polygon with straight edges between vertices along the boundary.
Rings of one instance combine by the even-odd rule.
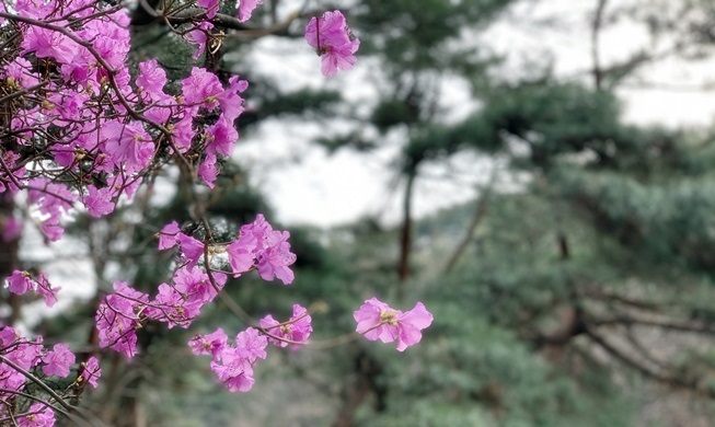
[[[251,86],[209,214],[291,232],[291,286],[227,290],[254,318],[310,307],[314,344],[272,348],[253,391],[228,393],[186,345],[245,327],[218,303],[191,331],[149,325],[131,363],[104,355],[89,409],[116,426],[715,425],[715,2],[265,1],[211,56]],[[328,79],[302,32],[336,8],[360,49]],[[135,60],[186,76],[192,48],[132,20]],[[114,280],[170,277],[152,236],[188,221],[185,186],[158,176],[61,246],[26,227],[20,258],[64,290],[8,315],[87,345]],[[343,343],[372,296],[423,301],[423,342]]]

